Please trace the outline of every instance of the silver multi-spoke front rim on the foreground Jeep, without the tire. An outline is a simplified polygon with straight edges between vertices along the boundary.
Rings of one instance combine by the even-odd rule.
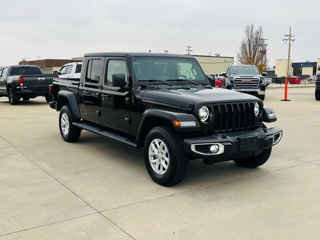
[[[170,156],[168,148],[160,139],[154,139],[149,146],[149,161],[156,174],[163,175],[169,168]]]

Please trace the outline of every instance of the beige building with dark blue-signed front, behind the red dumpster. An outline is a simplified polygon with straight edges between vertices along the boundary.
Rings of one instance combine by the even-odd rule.
[[[293,62],[290,60],[289,76],[309,75],[314,76],[317,72],[317,67],[320,66],[320,58],[317,62]],[[288,60],[276,60],[275,74],[280,76],[287,76]]]

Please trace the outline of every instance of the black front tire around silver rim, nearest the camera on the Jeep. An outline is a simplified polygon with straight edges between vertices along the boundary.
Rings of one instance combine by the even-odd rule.
[[[164,174],[157,174],[149,161],[149,147],[153,140],[159,139],[168,148],[168,167]],[[146,137],[144,145],[145,164],[152,180],[162,186],[172,186],[180,183],[186,176],[189,159],[183,148],[183,139],[169,126],[152,128]],[[161,165],[160,165],[161,167]]]

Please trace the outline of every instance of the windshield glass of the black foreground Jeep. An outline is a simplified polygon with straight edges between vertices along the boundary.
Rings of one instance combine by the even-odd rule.
[[[187,79],[195,83],[207,82],[207,78],[204,75],[202,68],[195,59],[133,57],[133,71],[134,76],[138,81],[149,79],[161,81],[169,79]]]

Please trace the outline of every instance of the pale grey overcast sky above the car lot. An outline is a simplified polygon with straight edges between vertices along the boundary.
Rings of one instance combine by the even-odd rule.
[[[320,58],[320,1],[1,0],[0,66],[22,58],[71,59],[87,52],[134,51],[235,57],[246,24],[262,26],[269,65]]]

